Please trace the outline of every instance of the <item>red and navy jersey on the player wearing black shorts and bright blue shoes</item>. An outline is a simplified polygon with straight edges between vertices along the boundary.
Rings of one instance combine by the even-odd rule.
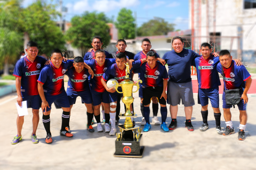
[[[140,73],[140,80],[142,86],[146,87],[163,87],[163,79],[168,80],[168,73],[160,62],[156,62],[153,69],[150,68],[147,62],[143,63],[140,68],[133,70],[135,73]]]

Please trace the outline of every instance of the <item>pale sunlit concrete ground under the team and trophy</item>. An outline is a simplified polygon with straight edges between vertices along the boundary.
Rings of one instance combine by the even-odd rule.
[[[65,87],[67,83],[65,83]],[[134,93],[134,108],[138,115],[135,118],[140,125],[140,98],[138,92]],[[143,145],[145,152],[142,158],[114,157],[116,136],[109,136],[105,132],[97,132],[94,124],[94,133],[86,129],[86,108],[77,98],[71,110],[70,126],[73,138],[60,136],[61,109],[52,105],[51,133],[53,143],[46,144],[46,132],[42,123],[42,111],[37,130],[39,143],[33,144],[30,140],[32,133],[32,110],[25,116],[22,128],[23,140],[11,145],[13,137],[17,134],[15,106],[16,93],[0,98],[0,169],[255,169],[256,161],[256,94],[248,95],[247,106],[248,121],[246,126],[246,140],[237,140],[239,127],[239,110],[232,108],[232,121],[235,134],[230,136],[218,135],[215,130],[213,110],[209,104],[209,129],[201,132],[202,125],[201,106],[193,107],[192,124],[194,131],[185,128],[185,114],[183,105],[179,105],[178,127],[174,131],[164,132],[160,125],[153,125],[149,132],[143,132]],[[220,95],[220,98],[222,95]],[[197,103],[197,94],[194,94]],[[220,100],[220,106],[222,101]],[[169,105],[167,105],[169,108]],[[152,108],[150,106],[150,116]],[[124,106],[121,104],[121,112]],[[225,120],[221,107],[221,126],[224,130]],[[161,121],[160,106],[158,118]],[[102,118],[101,118],[102,119]],[[150,118],[151,120],[151,118]],[[171,122],[168,109],[167,126]],[[124,123],[124,119],[119,121]],[[117,125],[116,125],[117,127]],[[103,127],[104,129],[104,127]],[[142,126],[143,129],[143,126]],[[119,132],[119,128],[118,128]]]

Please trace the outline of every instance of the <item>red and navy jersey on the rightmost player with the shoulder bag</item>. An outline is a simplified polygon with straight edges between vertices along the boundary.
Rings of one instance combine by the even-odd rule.
[[[221,63],[218,63],[217,70],[222,73]],[[245,88],[245,81],[251,77],[246,68],[243,65],[237,66],[234,60],[232,60],[229,68],[223,67],[223,72],[226,90],[237,89],[242,83],[242,88]]]

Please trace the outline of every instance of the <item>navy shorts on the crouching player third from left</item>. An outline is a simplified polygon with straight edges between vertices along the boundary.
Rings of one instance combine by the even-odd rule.
[[[76,92],[76,91],[67,89],[67,95],[69,99],[69,105],[75,104],[78,96],[81,97],[82,103],[86,103],[86,104],[93,103],[93,98],[90,90]]]

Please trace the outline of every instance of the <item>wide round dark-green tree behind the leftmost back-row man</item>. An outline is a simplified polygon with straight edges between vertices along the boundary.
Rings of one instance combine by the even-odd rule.
[[[92,48],[92,37],[100,36],[103,46],[106,47],[110,42],[108,18],[104,13],[89,13],[86,11],[82,16],[74,16],[71,25],[66,32],[66,39],[71,45],[77,48],[83,57],[89,48]]]

